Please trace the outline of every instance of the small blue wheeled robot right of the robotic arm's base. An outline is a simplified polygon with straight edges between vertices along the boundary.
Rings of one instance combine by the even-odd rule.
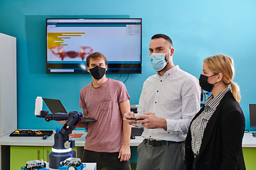
[[[86,166],[86,164],[81,163],[80,158],[73,157],[65,159],[65,161],[60,162],[60,164],[63,166],[59,167],[59,170],[82,170]]]

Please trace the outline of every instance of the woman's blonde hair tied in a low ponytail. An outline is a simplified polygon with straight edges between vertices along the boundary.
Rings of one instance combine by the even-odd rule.
[[[214,73],[222,73],[223,74],[223,82],[225,85],[231,86],[231,92],[236,101],[241,101],[240,96],[240,88],[238,84],[233,82],[233,78],[235,76],[235,67],[233,63],[233,59],[228,57],[227,55],[213,55],[207,57],[203,60],[203,63],[206,64],[207,67]]]

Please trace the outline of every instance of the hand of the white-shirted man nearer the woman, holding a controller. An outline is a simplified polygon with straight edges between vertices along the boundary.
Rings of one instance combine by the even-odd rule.
[[[147,129],[163,128],[164,130],[167,130],[166,120],[164,118],[156,117],[152,112],[146,113],[145,115],[138,115],[136,122],[142,123],[142,125]]]

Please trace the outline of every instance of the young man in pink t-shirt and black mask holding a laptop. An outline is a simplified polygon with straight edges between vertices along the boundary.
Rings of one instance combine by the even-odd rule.
[[[122,119],[130,111],[127,89],[121,81],[107,79],[107,59],[100,52],[88,56],[86,64],[92,82],[80,91],[80,108],[85,118],[97,121],[78,125],[87,128],[82,162],[96,162],[97,169],[130,170],[132,128]]]

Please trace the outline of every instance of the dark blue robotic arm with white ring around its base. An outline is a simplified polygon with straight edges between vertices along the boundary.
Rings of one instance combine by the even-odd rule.
[[[49,167],[51,169],[58,169],[60,162],[63,162],[69,157],[75,157],[75,141],[69,140],[69,135],[72,130],[82,121],[82,113],[72,111],[70,113],[50,113],[48,111],[41,111],[41,115],[37,117],[45,118],[47,122],[50,120],[67,120],[60,132],[54,135],[54,145],[52,152],[49,154]]]

